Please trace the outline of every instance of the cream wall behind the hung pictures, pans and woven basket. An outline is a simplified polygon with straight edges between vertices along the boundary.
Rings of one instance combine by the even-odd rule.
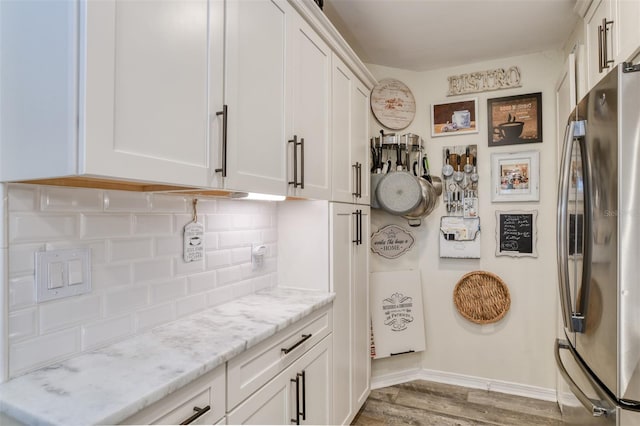
[[[477,144],[479,197],[482,226],[482,255],[477,260],[440,259],[438,228],[445,215],[442,201],[419,228],[410,228],[417,239],[416,248],[395,261],[372,254],[372,271],[419,268],[422,278],[427,348],[423,353],[375,360],[374,381],[403,370],[435,370],[504,381],[543,389],[555,388],[553,342],[556,337],[556,131],[555,85],[563,55],[559,52],[493,60],[456,68],[412,72],[369,65],[376,78],[403,81],[416,98],[414,121],[401,133],[423,137],[432,174],[442,167],[442,147]],[[522,87],[447,98],[450,75],[508,68],[516,65],[522,75]],[[543,142],[536,144],[488,147],[487,99],[542,92]],[[439,138],[430,136],[430,112],[433,102],[478,97],[479,134]],[[382,128],[371,119],[371,135]],[[490,155],[498,152],[540,151],[540,201],[530,203],[492,203],[490,198]],[[495,256],[495,211],[538,211],[538,257],[512,258]],[[379,210],[372,214],[372,232],[404,219]],[[511,308],[498,323],[477,325],[458,314],[452,301],[453,289],[462,275],[486,270],[499,275],[509,287]]]

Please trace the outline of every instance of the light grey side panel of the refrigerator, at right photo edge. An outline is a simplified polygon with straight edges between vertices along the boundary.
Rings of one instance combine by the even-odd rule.
[[[619,80],[620,207],[616,213],[620,227],[620,377],[617,394],[621,399],[640,401],[640,72],[621,73]]]

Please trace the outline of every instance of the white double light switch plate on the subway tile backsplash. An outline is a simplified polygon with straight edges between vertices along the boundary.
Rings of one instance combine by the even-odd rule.
[[[91,292],[91,250],[36,252],[36,300],[61,299]]]

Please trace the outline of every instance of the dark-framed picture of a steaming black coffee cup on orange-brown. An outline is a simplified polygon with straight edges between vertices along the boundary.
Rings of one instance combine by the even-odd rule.
[[[487,100],[489,147],[542,142],[542,93]]]

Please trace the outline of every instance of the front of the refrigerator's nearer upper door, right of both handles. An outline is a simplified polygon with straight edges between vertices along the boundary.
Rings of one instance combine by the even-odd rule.
[[[611,391],[618,389],[618,73],[611,72],[578,106],[584,198],[583,270],[576,304],[582,332],[576,350]]]

